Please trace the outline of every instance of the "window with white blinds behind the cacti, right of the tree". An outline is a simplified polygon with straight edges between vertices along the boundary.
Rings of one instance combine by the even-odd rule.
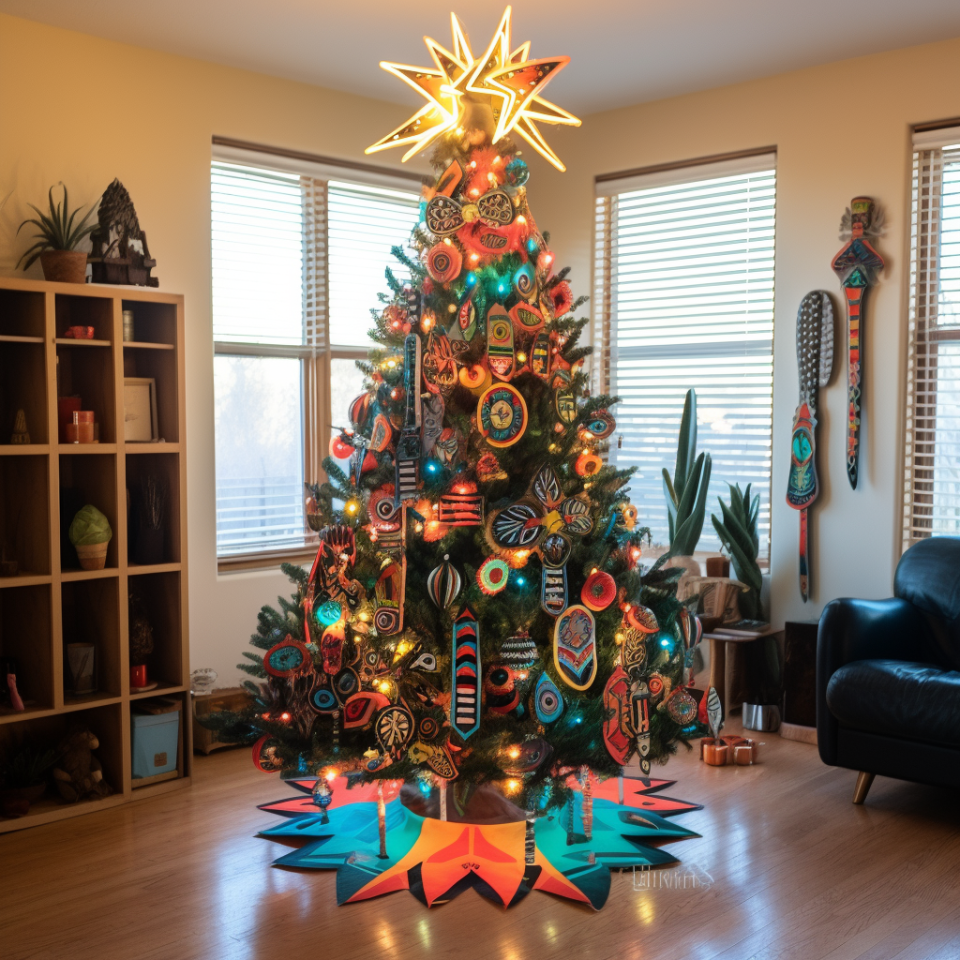
[[[621,466],[654,542],[669,541],[683,398],[697,391],[697,449],[713,459],[699,549],[727,482],[760,494],[769,555],[776,157],[772,153],[598,178],[594,387],[621,398]]]

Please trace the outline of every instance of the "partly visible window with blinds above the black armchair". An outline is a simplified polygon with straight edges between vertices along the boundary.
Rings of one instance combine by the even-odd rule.
[[[914,135],[903,540],[960,536],[960,127]]]

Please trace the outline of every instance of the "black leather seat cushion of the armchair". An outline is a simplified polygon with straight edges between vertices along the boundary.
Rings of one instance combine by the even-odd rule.
[[[960,748],[960,672],[930,663],[855,660],[827,684],[827,706],[845,727]]]

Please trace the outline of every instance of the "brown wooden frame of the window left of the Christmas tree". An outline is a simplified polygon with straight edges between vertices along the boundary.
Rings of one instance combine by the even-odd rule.
[[[419,174],[408,171],[392,171],[370,164],[351,163],[343,160],[321,157],[301,151],[287,151],[275,147],[252,144],[246,141],[225,137],[214,137],[210,157],[211,168],[215,163],[230,163],[275,173],[295,174],[314,181],[312,188],[322,185],[323,202],[320,211],[317,203],[307,209],[307,197],[304,195],[304,234],[308,228],[316,232],[322,229],[324,237],[329,236],[327,225],[327,185],[331,180],[356,183],[366,186],[379,186],[388,189],[413,191],[419,193],[426,182]],[[303,192],[303,191],[302,191]],[[212,200],[212,197],[211,197]],[[212,203],[211,203],[212,209]],[[322,222],[320,221],[322,217]],[[308,222],[309,226],[308,226]],[[412,229],[412,225],[411,225]],[[326,474],[323,460],[327,456],[329,441],[333,429],[332,398],[330,396],[331,362],[333,360],[363,360],[369,355],[367,347],[353,347],[329,342],[329,249],[328,243],[322,247],[318,265],[311,264],[311,254],[304,244],[302,295],[304,298],[304,340],[300,344],[262,344],[250,341],[218,340],[213,338],[214,356],[264,357],[298,359],[301,368],[301,405],[303,415],[303,473],[305,478],[315,477],[323,482]],[[308,274],[312,272],[312,282],[320,284],[321,289],[314,291],[313,303],[309,302],[307,288],[310,285]],[[211,274],[212,276],[212,274]],[[371,304],[371,307],[376,306]],[[320,321],[309,320],[311,310],[320,310]],[[216,509],[216,508],[215,508]],[[278,563],[306,563],[316,552],[317,535],[304,525],[303,545],[289,545],[276,548],[255,547],[243,553],[221,555],[217,553],[218,573],[230,573],[244,570],[269,569]]]

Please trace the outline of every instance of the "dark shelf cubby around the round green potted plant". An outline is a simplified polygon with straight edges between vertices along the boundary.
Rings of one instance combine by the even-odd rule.
[[[115,455],[99,452],[91,452],[89,456],[60,455],[60,567],[64,572],[81,569],[68,533],[73,517],[87,504],[95,506],[110,521],[113,537],[107,545],[106,566],[116,570],[121,545]]]

